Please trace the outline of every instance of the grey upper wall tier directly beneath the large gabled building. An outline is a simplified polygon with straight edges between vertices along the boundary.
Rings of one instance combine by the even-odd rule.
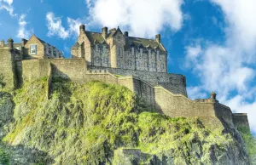
[[[148,82],[152,86],[160,85],[170,90],[173,94],[183,94],[187,96],[186,78],[183,75],[160,73],[153,71],[136,71],[119,68],[106,68],[98,66],[88,66],[88,70],[107,70],[114,75],[134,76]]]

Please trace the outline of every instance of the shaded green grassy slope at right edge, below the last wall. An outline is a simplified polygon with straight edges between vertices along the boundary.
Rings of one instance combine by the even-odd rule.
[[[248,154],[251,161],[256,163],[256,140],[253,138],[249,128],[240,127],[238,130],[241,133],[242,139],[244,139],[247,147]]]

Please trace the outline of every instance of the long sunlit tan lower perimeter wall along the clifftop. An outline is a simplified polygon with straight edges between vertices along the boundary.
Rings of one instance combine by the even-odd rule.
[[[8,61],[10,60],[8,59]],[[222,117],[226,122],[233,122],[229,107],[218,104],[218,101],[193,101],[189,100],[183,94],[173,94],[166,90],[166,88],[154,86],[131,75],[116,77],[107,70],[87,70],[86,62],[82,59],[23,60],[21,65],[22,71],[18,72],[22,72],[24,81],[32,81],[41,77],[48,77],[50,81],[51,77],[64,77],[79,83],[87,83],[94,80],[104,83],[114,83],[130,88],[131,91],[135,92],[140,98],[146,101],[148,107],[156,109],[169,117]],[[1,67],[3,67],[3,65],[1,65]],[[8,74],[15,72],[13,68],[10,69],[10,67],[6,70],[5,68],[3,69],[7,71]],[[142,74],[142,72],[139,74]],[[181,75],[170,75],[170,77],[172,76],[183,77]],[[160,76],[162,80],[165,80],[166,77],[167,76]],[[239,122],[241,120],[236,121]]]

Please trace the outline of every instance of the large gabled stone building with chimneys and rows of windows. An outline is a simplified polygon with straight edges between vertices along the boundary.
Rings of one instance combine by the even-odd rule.
[[[123,33],[119,27],[92,32],[85,31],[82,25],[71,54],[74,58],[84,58],[87,65],[167,72],[167,51],[160,34],[155,39],[145,39],[129,37],[128,31]]]

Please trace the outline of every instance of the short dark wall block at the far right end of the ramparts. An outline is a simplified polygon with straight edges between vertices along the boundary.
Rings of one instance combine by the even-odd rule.
[[[248,130],[250,129],[246,113],[234,113],[233,122],[237,128],[247,128]]]

